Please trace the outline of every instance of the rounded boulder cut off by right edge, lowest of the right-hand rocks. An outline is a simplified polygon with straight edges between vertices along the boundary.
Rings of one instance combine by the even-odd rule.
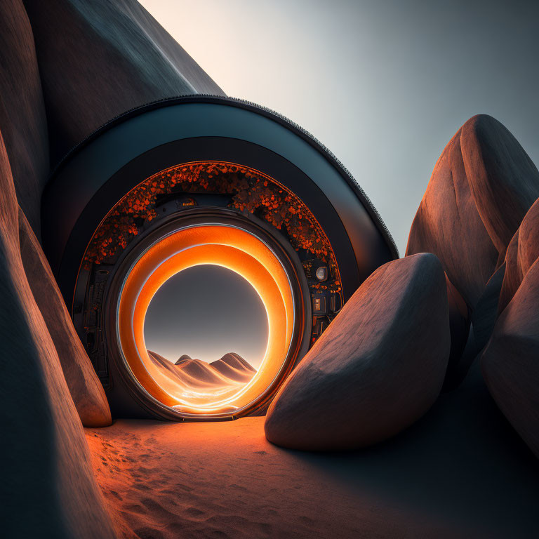
[[[500,314],[481,370],[496,404],[539,457],[539,259]]]

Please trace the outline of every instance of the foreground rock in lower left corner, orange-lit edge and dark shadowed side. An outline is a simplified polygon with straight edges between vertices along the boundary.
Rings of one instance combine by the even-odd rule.
[[[1,533],[114,538],[79,415],[22,267],[18,204],[1,137],[0,208],[0,462],[8,488]]]

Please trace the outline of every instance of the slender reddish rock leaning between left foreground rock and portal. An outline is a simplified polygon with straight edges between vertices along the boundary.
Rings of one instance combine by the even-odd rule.
[[[41,245],[22,211],[19,211],[19,236],[22,265],[53,338],[76,411],[85,427],[106,427],[112,423],[107,397],[76,334]]]

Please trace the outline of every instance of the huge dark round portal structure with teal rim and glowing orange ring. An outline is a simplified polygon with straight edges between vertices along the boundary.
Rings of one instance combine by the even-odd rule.
[[[132,110],[72,150],[44,193],[42,237],[117,417],[263,413],[361,282],[398,257],[323,145],[268,109],[205,95]],[[257,369],[237,354],[208,366],[147,350],[149,302],[197,265],[238,274],[260,297]],[[206,378],[194,383],[197,369]]]

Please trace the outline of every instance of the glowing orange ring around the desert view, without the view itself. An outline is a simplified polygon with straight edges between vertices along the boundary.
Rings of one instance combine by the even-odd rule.
[[[258,373],[237,393],[194,403],[181,397],[178,386],[150,361],[144,320],[149,302],[167,279],[201,264],[227,267],[255,288],[267,312],[268,345]],[[168,235],[139,258],[124,282],[117,320],[124,359],[154,399],[185,414],[227,415],[255,401],[279,375],[293,335],[294,300],[283,265],[264,242],[238,227],[198,225]]]

